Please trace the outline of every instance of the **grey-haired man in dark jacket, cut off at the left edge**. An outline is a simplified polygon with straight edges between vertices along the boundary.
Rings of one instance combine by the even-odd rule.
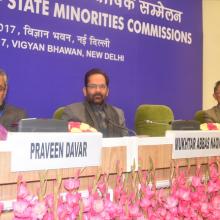
[[[26,113],[12,105],[5,103],[5,97],[8,89],[8,77],[0,69],[0,124],[8,131],[17,131],[18,122],[26,118]]]

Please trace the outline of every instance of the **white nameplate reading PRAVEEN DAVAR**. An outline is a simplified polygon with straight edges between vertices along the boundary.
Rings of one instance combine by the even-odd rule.
[[[100,166],[102,134],[14,133],[11,171]]]

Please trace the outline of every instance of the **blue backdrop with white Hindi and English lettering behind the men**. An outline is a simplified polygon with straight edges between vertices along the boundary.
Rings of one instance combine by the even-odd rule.
[[[0,1],[7,102],[50,118],[83,99],[93,67],[109,74],[108,102],[124,110],[128,127],[140,104],[191,119],[202,106],[202,1]]]

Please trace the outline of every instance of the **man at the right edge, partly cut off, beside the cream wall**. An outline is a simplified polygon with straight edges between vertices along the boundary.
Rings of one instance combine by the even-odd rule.
[[[220,123],[220,81],[215,84],[213,97],[218,104],[205,111],[204,119],[206,123]]]

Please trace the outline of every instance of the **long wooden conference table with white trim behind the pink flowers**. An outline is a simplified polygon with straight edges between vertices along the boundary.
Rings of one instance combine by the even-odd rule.
[[[12,155],[16,154],[19,157],[23,154],[20,153],[23,145],[26,144],[26,140],[31,143],[32,138],[42,139],[44,141],[51,140],[54,137],[63,138],[65,140],[75,138],[77,134],[73,133],[32,133],[32,132],[22,132],[22,133],[13,133],[9,132],[7,140],[0,141],[0,201],[3,201],[5,204],[5,210],[11,209],[12,200],[16,199],[17,191],[17,180],[18,176],[21,175],[23,180],[26,181],[28,189],[31,192],[36,192],[36,188],[39,187],[40,177],[46,175],[48,180],[47,182],[47,193],[52,192],[54,180],[57,176],[60,175],[63,179],[70,178],[76,175],[77,170],[81,169],[80,173],[80,190],[87,189],[88,185],[93,181],[94,176],[103,173],[109,174],[109,185],[114,186],[115,176],[117,173],[116,164],[120,167],[121,171],[128,173],[131,171],[131,167],[137,170],[138,167],[141,167],[142,170],[149,170],[153,167],[155,170],[156,177],[156,186],[158,188],[169,187],[170,179],[170,167],[171,162],[175,164],[178,163],[179,167],[191,166],[192,172],[195,169],[195,165],[200,163],[205,166],[209,161],[209,156],[219,156],[219,147],[220,147],[220,131],[215,132],[203,132],[203,131],[178,131],[177,135],[188,135],[190,138],[197,137],[199,135],[200,141],[201,137],[204,140],[209,141],[218,141],[218,145],[215,147],[215,151],[211,151],[208,154],[201,155],[198,154],[198,157],[187,156],[187,159],[183,156],[175,159],[173,158],[173,148],[176,144],[173,138],[172,131],[169,131],[165,137],[146,137],[146,136],[131,136],[131,137],[121,137],[121,138],[99,138],[101,142],[99,145],[101,147],[92,146],[92,151],[94,157],[98,155],[98,164],[96,166],[78,166],[74,164],[74,167],[60,166],[56,169],[51,169],[50,163],[48,167],[44,165],[44,169],[39,170],[29,170],[29,164],[25,164],[27,170],[15,171],[16,163],[19,167],[19,164],[24,163],[24,160],[21,158],[19,161],[12,162]],[[81,133],[78,138],[83,139],[87,138],[91,134]],[[176,133],[175,133],[176,135]],[[92,135],[91,135],[92,137]],[[212,138],[215,139],[212,139]],[[179,137],[178,137],[179,138]],[[190,140],[189,138],[185,141]],[[209,138],[209,139],[207,139]],[[63,140],[62,139],[62,140]],[[94,139],[93,137],[91,138]],[[195,139],[195,138],[194,138]],[[193,139],[192,139],[193,140]],[[176,141],[177,142],[177,141]],[[211,143],[211,142],[210,142]],[[186,142],[184,142],[186,146]],[[213,143],[212,143],[213,144]],[[191,145],[190,145],[191,146]],[[205,146],[205,145],[204,145]],[[200,149],[202,150],[202,149]],[[204,150],[204,149],[203,149]],[[207,149],[205,149],[207,150]],[[212,150],[212,149],[211,149]],[[20,154],[19,154],[20,153]],[[192,153],[193,155],[193,153]],[[92,156],[93,158],[93,156]],[[13,159],[14,160],[14,159]],[[47,161],[47,160],[45,160]],[[41,163],[41,162],[39,162]],[[12,167],[14,168],[12,169]],[[135,167],[134,167],[135,166]],[[82,169],[82,167],[84,167]],[[29,169],[28,169],[29,168]],[[63,189],[61,189],[63,190]]]

